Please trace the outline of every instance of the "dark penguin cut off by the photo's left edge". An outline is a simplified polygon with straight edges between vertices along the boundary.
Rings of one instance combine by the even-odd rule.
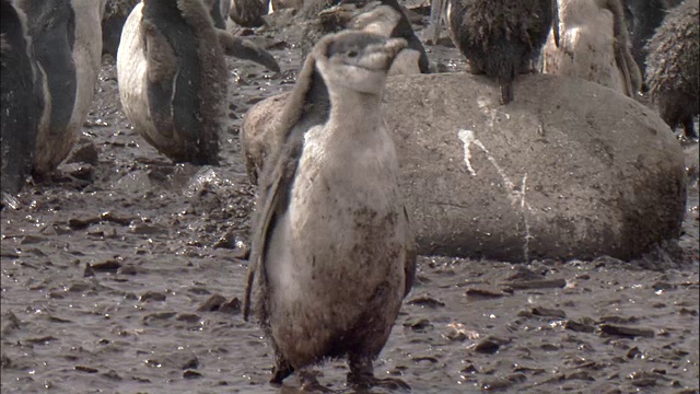
[[[16,194],[32,170],[39,127],[48,126],[50,103],[26,32],[26,15],[11,0],[0,1],[0,141],[2,192]],[[46,111],[45,111],[46,109]],[[39,125],[44,123],[44,125]]]

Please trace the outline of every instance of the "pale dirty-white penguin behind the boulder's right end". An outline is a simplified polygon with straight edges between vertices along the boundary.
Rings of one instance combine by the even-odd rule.
[[[544,50],[545,73],[576,77],[635,97],[639,66],[631,53],[621,0],[559,0],[561,37]]]

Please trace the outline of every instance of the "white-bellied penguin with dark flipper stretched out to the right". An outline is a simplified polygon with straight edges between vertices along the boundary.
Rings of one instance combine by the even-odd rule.
[[[202,0],[145,0],[127,19],[117,53],[124,111],[175,162],[218,163],[224,53],[279,71],[269,53],[215,28]]]

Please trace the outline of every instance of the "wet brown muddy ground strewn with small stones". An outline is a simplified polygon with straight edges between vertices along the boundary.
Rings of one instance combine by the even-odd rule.
[[[296,391],[293,376],[267,383],[270,348],[238,301],[255,193],[238,128],[301,62],[299,43],[266,35],[283,72],[230,61],[219,167],[151,148],[105,57],[74,162],[1,213],[2,393]],[[446,71],[464,67],[454,48],[428,48]],[[697,166],[697,144],[686,150]],[[697,393],[697,170],[689,179],[682,237],[635,262],[421,257],[375,373],[415,393]],[[342,362],[320,371],[347,390]]]

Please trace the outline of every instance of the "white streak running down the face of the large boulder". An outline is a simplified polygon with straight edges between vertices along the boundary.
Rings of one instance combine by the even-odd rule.
[[[515,184],[511,181],[511,178],[508,176],[508,174],[505,174],[505,171],[503,171],[503,169],[499,165],[495,158],[493,158],[491,153],[489,153],[489,150],[486,149],[483,143],[481,143],[481,141],[479,141],[476,138],[475,132],[472,130],[459,129],[457,130],[457,138],[459,138],[459,140],[464,143],[464,162],[467,165],[467,171],[469,171],[469,174],[471,175],[477,174],[476,171],[474,170],[474,166],[471,165],[470,147],[471,144],[475,144],[479,147],[483,151],[483,153],[486,153],[487,159],[489,160],[489,162],[491,162],[495,171],[499,173],[499,175],[503,179],[503,183],[505,184],[505,187],[509,190],[508,196],[509,196],[509,199],[511,200],[511,206],[516,210],[518,210],[523,216],[523,224],[525,225],[523,258],[525,259],[526,263],[528,263],[529,262],[529,242],[530,240],[534,239],[534,236],[530,233],[530,225],[529,225],[529,221],[527,219],[527,212],[526,212],[526,211],[530,211],[530,212],[533,211],[533,208],[525,199],[525,190],[527,189],[527,173],[525,173],[525,175],[523,176],[523,181],[521,182],[521,187],[517,188]]]

